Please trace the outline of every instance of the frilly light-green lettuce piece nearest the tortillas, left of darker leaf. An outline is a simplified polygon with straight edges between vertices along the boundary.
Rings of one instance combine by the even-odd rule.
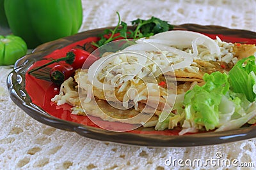
[[[204,81],[202,87],[196,85],[186,92],[184,106],[186,119],[203,125],[208,131],[220,124],[219,105],[222,96],[228,92],[229,83],[228,75],[220,72],[205,73]]]

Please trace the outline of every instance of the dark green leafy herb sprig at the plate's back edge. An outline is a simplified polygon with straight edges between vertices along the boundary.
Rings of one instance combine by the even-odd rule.
[[[173,29],[173,25],[168,24],[168,22],[151,17],[148,20],[141,20],[140,18],[133,20],[131,24],[134,26],[134,31],[132,31],[127,29],[125,22],[121,21],[120,14],[118,12],[116,14],[118,15],[118,24],[115,29],[105,29],[102,34],[99,34],[99,41],[93,42],[92,45],[99,48],[116,39],[140,39]]]

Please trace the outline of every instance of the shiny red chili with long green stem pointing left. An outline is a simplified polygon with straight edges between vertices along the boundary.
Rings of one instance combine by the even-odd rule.
[[[38,69],[42,69],[43,67],[49,66],[50,64],[60,62],[60,61],[65,61],[67,64],[71,64],[74,69],[79,69],[82,68],[84,64],[84,69],[88,69],[95,60],[98,60],[99,57],[96,57],[95,55],[92,55],[85,50],[79,49],[79,48],[74,48],[67,52],[66,57],[62,57],[60,59],[52,60],[51,62],[48,62],[47,64],[44,64],[43,66],[36,67],[35,69],[31,69],[28,73],[32,73]]]

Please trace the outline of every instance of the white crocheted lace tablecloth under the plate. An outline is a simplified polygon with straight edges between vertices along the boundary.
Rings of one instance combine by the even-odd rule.
[[[91,1],[84,0],[84,23],[80,31],[114,26],[116,11],[130,24],[136,18],[152,16],[170,24],[222,25],[256,31],[256,1]],[[125,146],[87,139],[74,132],[41,124],[26,115],[10,99],[6,77],[10,66],[0,66],[0,169],[226,169],[166,166],[166,159],[216,158],[252,162],[256,167],[256,138],[222,145],[191,148]],[[236,162],[235,162],[236,163]],[[251,164],[251,165],[252,165]],[[240,169],[240,167],[230,167]],[[243,169],[243,168],[241,168]],[[246,167],[246,169],[253,169]]]

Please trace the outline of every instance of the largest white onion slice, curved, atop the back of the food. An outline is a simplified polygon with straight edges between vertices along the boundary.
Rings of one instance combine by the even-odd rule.
[[[191,42],[196,38],[200,38],[202,45],[206,46],[211,54],[216,53],[217,55],[220,55],[220,47],[213,39],[193,31],[177,30],[161,32],[151,36],[149,39],[143,39],[142,41],[149,41],[150,43],[154,43],[155,41],[156,43],[161,43],[159,40],[163,40],[162,42],[164,45],[190,46]]]

